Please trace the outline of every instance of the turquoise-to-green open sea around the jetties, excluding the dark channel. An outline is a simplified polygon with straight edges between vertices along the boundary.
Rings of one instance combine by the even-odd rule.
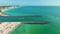
[[[10,16],[33,16],[25,21],[46,21],[48,24],[21,24],[11,34],[60,34],[60,6],[24,6],[4,13]],[[24,21],[24,20],[22,20]]]

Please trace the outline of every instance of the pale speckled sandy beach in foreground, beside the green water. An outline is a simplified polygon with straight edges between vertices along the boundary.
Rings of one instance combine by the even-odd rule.
[[[0,34],[9,34],[16,26],[21,24],[20,22],[3,22],[0,24]]]

